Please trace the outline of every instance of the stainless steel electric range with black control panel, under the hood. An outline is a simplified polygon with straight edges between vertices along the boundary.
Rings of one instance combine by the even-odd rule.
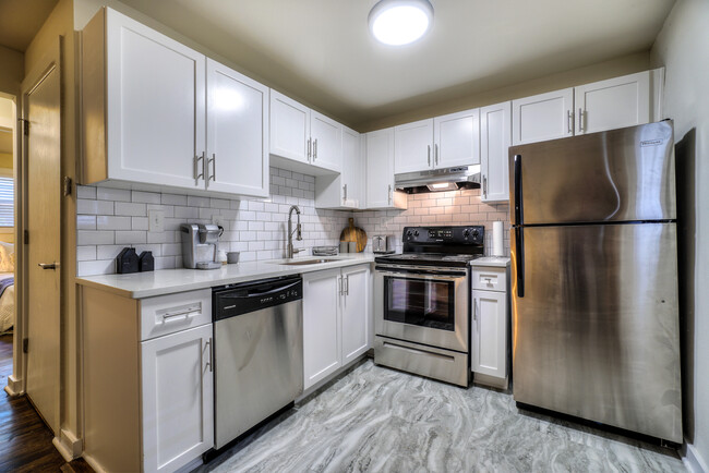
[[[377,256],[374,362],[468,386],[469,263],[483,227],[407,227],[404,253]]]

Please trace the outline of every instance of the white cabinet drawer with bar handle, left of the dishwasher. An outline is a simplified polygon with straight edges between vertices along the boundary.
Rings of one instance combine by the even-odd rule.
[[[141,340],[173,333],[211,322],[211,289],[141,300]]]

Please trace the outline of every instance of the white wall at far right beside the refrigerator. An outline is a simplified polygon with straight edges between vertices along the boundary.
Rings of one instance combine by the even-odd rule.
[[[651,51],[666,68],[664,110],[677,142],[684,296],[685,439],[709,465],[709,1],[677,0]]]

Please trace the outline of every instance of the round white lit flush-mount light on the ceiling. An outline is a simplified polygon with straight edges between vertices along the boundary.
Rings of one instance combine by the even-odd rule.
[[[385,45],[408,45],[431,27],[433,7],[429,0],[381,0],[369,22],[372,35]]]

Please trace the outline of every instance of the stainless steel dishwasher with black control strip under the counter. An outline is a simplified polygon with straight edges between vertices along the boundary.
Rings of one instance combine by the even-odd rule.
[[[303,391],[300,276],[215,288],[215,447],[224,447]]]

